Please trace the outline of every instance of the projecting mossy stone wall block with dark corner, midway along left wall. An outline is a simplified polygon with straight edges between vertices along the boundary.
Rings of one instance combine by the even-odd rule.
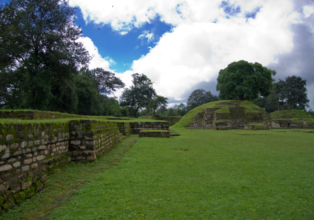
[[[114,121],[72,120],[70,130],[69,150],[72,151],[72,161],[95,160],[119,142],[120,132]]]

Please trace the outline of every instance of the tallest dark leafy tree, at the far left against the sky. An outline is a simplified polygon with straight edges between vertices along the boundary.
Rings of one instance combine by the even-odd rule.
[[[15,76],[7,83],[7,96],[17,88],[24,93],[19,102],[30,108],[76,108],[77,102],[68,102],[76,99],[69,87],[90,56],[77,41],[82,31],[74,14],[66,0],[11,0],[1,6],[0,72]]]

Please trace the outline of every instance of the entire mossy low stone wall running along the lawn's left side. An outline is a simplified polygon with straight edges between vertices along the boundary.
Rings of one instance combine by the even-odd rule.
[[[95,160],[121,135],[145,129],[167,130],[160,133],[169,136],[169,122],[0,123],[0,213],[42,190],[48,175],[68,162]]]

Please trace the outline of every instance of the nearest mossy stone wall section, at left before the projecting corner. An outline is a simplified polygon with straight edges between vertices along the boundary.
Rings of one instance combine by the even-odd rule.
[[[41,190],[71,161],[69,123],[0,123],[0,206],[8,210]]]

